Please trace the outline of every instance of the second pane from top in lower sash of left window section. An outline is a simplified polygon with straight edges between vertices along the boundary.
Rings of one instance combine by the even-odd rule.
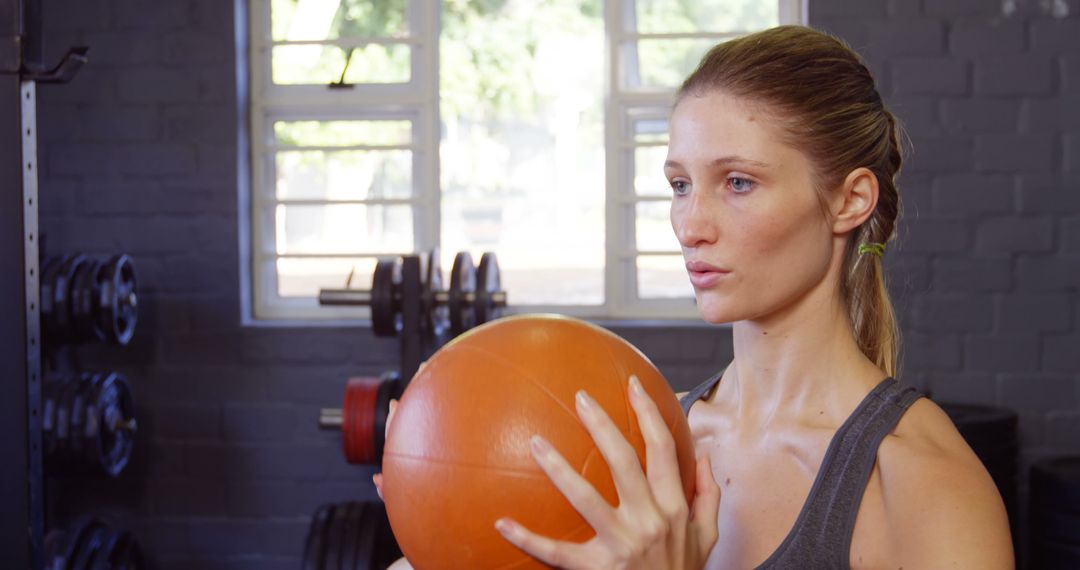
[[[279,200],[378,200],[413,195],[409,150],[276,153]]]

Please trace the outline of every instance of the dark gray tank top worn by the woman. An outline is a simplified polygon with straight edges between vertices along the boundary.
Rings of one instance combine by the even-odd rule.
[[[683,396],[683,411],[689,415],[690,406],[708,394],[723,375]],[[851,534],[878,446],[920,397],[914,388],[886,378],[863,398],[829,442],[791,532],[759,570],[850,568]]]

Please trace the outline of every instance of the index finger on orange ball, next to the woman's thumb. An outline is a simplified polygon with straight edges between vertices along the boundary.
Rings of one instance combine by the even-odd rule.
[[[683,492],[675,438],[656,403],[634,376],[630,377],[630,404],[637,415],[637,425],[645,439],[646,476],[657,505],[669,517],[685,518],[689,513],[686,493]]]

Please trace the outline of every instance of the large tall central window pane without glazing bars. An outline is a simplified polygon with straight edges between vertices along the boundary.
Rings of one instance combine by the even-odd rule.
[[[495,250],[522,304],[604,298],[599,0],[447,2],[442,247]]]

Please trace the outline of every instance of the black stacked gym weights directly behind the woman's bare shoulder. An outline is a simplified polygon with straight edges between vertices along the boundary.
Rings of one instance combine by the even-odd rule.
[[[1020,435],[1016,430],[1016,412],[971,404],[939,403],[939,405],[956,424],[957,431],[971,446],[997,485],[1009,514],[1015,542],[1020,521],[1016,476]]]

